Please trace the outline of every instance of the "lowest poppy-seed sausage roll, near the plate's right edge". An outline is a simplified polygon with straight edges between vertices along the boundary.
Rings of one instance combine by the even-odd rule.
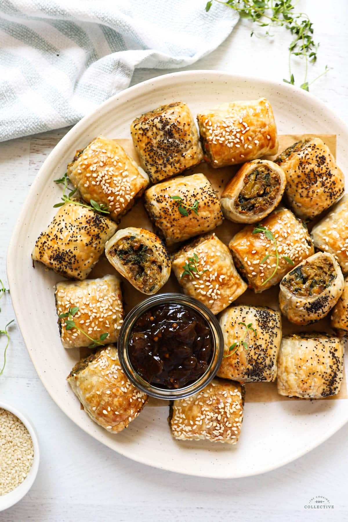
[[[280,395],[321,399],[337,395],[343,378],[342,339],[321,332],[283,337],[278,355]]]

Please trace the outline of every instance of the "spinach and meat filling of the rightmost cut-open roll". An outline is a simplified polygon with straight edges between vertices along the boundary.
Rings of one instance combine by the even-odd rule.
[[[318,257],[315,263],[305,263],[292,270],[282,284],[294,295],[311,297],[321,294],[336,278],[333,263],[327,257]]]

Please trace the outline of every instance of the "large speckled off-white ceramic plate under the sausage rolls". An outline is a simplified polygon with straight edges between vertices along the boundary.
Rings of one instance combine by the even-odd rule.
[[[193,114],[231,100],[268,98],[280,134],[337,135],[337,160],[348,163],[348,127],[307,92],[286,84],[217,71],[174,73],[131,87],[83,118],[42,165],[10,241],[7,277],[18,325],[41,381],[57,405],[82,430],[131,459],[162,469],[214,478],[237,478],[269,471],[307,453],[348,421],[348,400],[248,403],[236,446],[175,441],[168,409],[147,406],[127,430],[112,435],[92,422],[66,382],[76,353],[62,348],[54,304],[61,277],[32,268],[35,240],[51,221],[61,187],[53,180],[66,170],[76,149],[98,134],[129,138],[135,116],[163,103],[185,101]]]

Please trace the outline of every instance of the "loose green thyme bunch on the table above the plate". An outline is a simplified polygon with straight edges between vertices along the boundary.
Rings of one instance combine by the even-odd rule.
[[[329,67],[326,66],[321,73],[313,81],[307,81],[308,63],[314,63],[317,60],[317,51],[319,43],[313,40],[313,23],[309,20],[305,13],[296,13],[294,8],[297,2],[292,0],[209,0],[206,5],[206,11],[209,11],[213,2],[224,4],[234,11],[237,11],[242,18],[248,18],[257,23],[259,27],[267,27],[265,37],[273,37],[270,34],[272,27],[283,27],[290,31],[293,40],[289,45],[289,80],[283,79],[287,84],[294,85],[295,79],[291,72],[291,57],[299,56],[305,60],[305,77],[301,84],[301,89],[309,90],[309,86],[313,84],[320,76],[326,74]],[[253,36],[251,31],[250,36]]]

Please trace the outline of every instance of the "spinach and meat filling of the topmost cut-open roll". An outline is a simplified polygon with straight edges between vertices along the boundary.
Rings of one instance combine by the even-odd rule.
[[[235,201],[241,214],[258,214],[267,210],[277,198],[280,176],[268,165],[260,165],[244,177],[244,186]]]

